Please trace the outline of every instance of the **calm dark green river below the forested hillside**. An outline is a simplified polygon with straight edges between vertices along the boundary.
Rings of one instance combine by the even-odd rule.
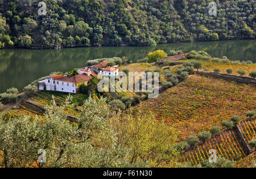
[[[85,65],[89,59],[123,57],[136,61],[154,50],[204,50],[213,57],[227,56],[232,60],[256,63],[256,40],[181,42],[157,46],[89,47],[69,49],[0,49],[0,92],[24,86],[53,71],[69,71]]]

